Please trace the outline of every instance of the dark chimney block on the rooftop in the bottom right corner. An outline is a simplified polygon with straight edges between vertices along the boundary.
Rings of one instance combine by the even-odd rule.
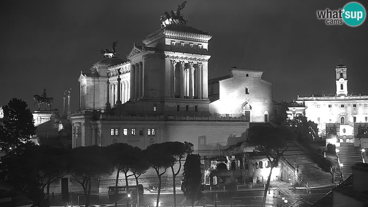
[[[352,168],[354,191],[363,192],[368,190],[368,164],[357,162]]]

